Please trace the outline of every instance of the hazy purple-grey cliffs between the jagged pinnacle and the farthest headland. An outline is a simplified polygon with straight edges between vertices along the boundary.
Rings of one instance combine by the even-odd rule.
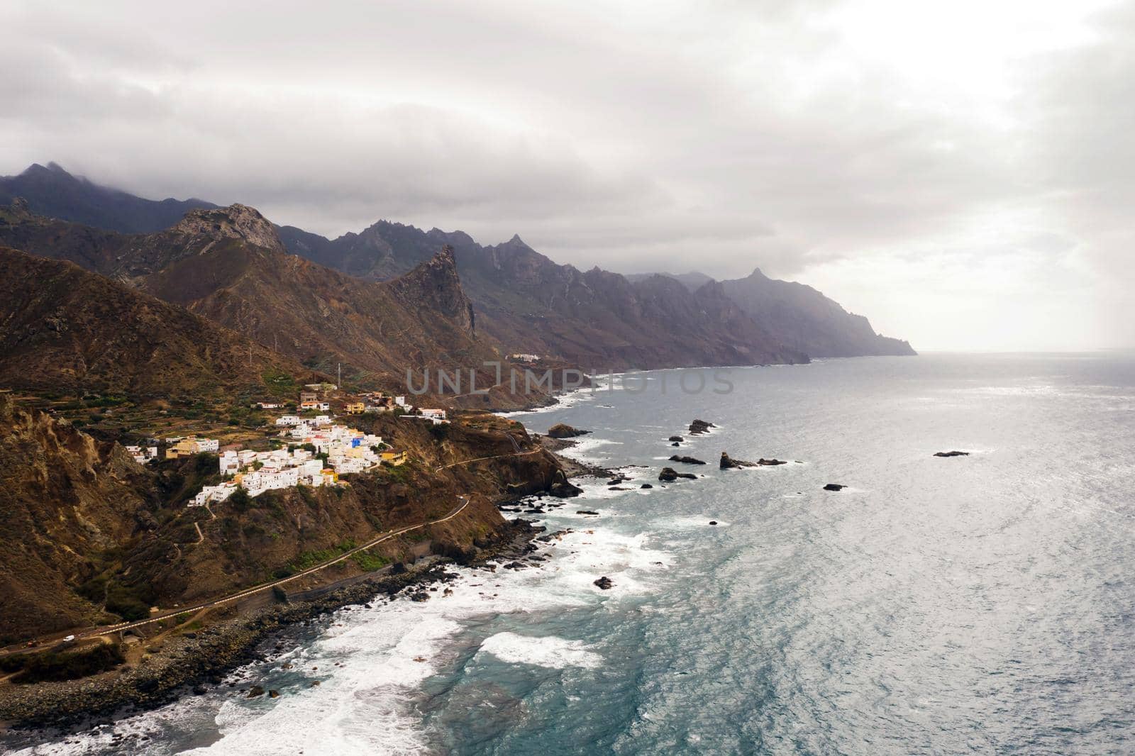
[[[478,328],[511,351],[599,370],[806,362],[718,287],[696,292],[664,277],[631,282],[600,268],[558,264],[519,236],[482,246],[462,232],[379,221],[327,240],[279,229],[296,254],[352,276],[385,279],[453,247]]]

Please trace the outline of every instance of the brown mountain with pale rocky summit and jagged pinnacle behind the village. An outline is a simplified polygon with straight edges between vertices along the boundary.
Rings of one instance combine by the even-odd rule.
[[[259,212],[244,205],[192,210],[163,232],[121,235],[43,219],[18,207],[0,212],[0,242],[74,260],[255,339],[312,368],[403,393],[407,370],[478,368],[478,387],[501,359],[478,338],[471,303],[443,249],[392,282],[361,280],[289,254]],[[435,384],[436,385],[436,384]],[[466,389],[462,392],[468,393]],[[518,406],[540,397],[460,403]],[[518,404],[519,403],[519,404]]]

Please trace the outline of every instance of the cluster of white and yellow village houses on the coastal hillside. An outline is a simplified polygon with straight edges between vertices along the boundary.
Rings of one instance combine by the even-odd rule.
[[[272,439],[275,448],[254,451],[239,445],[221,447],[215,438],[186,436],[167,438],[165,457],[176,460],[197,454],[217,454],[218,472],[222,480],[217,485],[205,485],[188,506],[204,506],[224,502],[237,490],[250,497],[264,492],[295,486],[343,486],[340,476],[364,473],[381,465],[397,467],[407,461],[405,452],[393,450],[381,436],[368,434],[336,421],[330,414],[331,402],[327,395],[337,387],[330,384],[305,386],[299,401],[257,402],[259,410],[287,410],[299,408],[299,414],[280,414],[272,420],[278,434]],[[354,400],[339,403],[345,415],[361,415],[390,412],[412,422],[428,422],[431,426],[448,423],[446,411],[413,406],[405,396],[386,394],[363,394]],[[323,414],[316,414],[322,412]],[[159,446],[150,439],[148,445],[131,445],[126,451],[140,464],[160,457]]]

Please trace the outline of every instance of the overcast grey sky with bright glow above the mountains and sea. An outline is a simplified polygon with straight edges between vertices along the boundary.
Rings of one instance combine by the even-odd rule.
[[[812,284],[924,350],[1135,346],[1135,3],[22,2],[0,174]]]

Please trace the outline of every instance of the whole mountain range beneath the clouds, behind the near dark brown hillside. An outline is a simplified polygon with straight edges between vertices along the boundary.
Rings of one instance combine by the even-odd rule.
[[[73,261],[310,368],[342,361],[389,379],[512,352],[598,370],[914,353],[759,271],[732,282],[581,271],[519,236],[481,245],[386,220],[328,240],[244,205],[144,200],[53,163],[0,178],[0,202],[15,202],[0,213],[0,243]]]

